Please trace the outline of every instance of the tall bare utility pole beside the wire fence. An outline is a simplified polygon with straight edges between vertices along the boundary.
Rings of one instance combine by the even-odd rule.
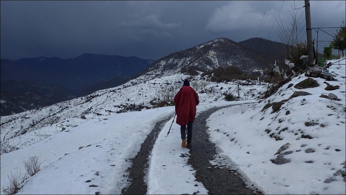
[[[313,63],[313,45],[312,45],[312,28],[311,28],[311,15],[310,15],[310,1],[305,0],[305,21],[306,21],[306,39],[308,43],[308,65],[314,66]]]

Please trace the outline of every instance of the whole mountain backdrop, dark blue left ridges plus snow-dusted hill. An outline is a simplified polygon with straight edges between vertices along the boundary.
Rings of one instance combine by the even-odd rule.
[[[1,116],[42,108],[119,86],[130,79],[205,72],[220,66],[251,72],[283,60],[284,44],[263,38],[234,42],[218,38],[161,59],[85,53],[60,57],[1,59]]]

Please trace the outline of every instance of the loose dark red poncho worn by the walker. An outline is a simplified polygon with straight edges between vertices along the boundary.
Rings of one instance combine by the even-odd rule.
[[[186,125],[189,121],[194,121],[199,97],[192,87],[183,86],[175,95],[174,103],[176,123],[178,125]]]

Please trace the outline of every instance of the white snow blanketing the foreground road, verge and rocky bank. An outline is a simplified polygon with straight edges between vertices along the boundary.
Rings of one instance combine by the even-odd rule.
[[[345,60],[340,63],[345,64]],[[295,77],[261,102],[255,99],[228,102],[221,98],[209,101],[210,96],[199,94],[203,101],[197,106],[197,117],[208,108],[234,105],[212,113],[207,119],[210,140],[216,144],[218,156],[223,158],[212,163],[220,166],[231,163],[249,186],[253,185],[264,194],[345,194],[344,178],[334,175],[338,170],[345,171],[345,165],[342,165],[346,158],[345,71],[345,65],[333,64],[329,72],[337,81],[313,78],[320,86],[308,89],[288,88],[289,84],[295,85],[307,78],[303,75]],[[324,81],[338,85],[340,89],[326,91]],[[139,88],[144,86],[138,85]],[[134,94],[138,91],[131,93],[130,87],[125,89],[127,91],[122,93],[132,96],[131,101],[138,99],[139,96]],[[289,99],[294,91],[312,95]],[[102,94],[102,91],[98,93]],[[335,94],[340,101],[319,97],[329,93]],[[262,111],[266,104],[284,99],[289,100],[279,112],[272,113],[271,107]],[[241,103],[251,104],[238,105]],[[101,103],[99,106],[105,109]],[[84,110],[84,107],[80,109]],[[290,114],[286,114],[287,111]],[[156,122],[170,118],[149,156],[147,194],[192,194],[198,191],[198,194],[208,194],[203,184],[195,181],[195,170],[188,164],[189,157],[180,157],[182,153],[188,154],[189,149],[181,148],[180,126],[173,122],[173,116],[174,106],[168,106],[93,117],[86,115],[88,120],[65,118],[75,125],[56,133],[52,133],[49,126],[37,128],[20,138],[21,142],[35,141],[1,154],[1,187],[8,185],[11,173],[26,172],[23,161],[37,156],[42,162],[41,170],[25,180],[18,194],[121,194],[121,189],[128,185],[129,159],[136,156]],[[1,122],[5,119],[2,117]],[[306,122],[315,125],[306,126]],[[166,136],[171,125],[170,134]],[[1,138],[7,132],[8,129],[1,129]],[[312,139],[302,138],[302,135]],[[39,136],[46,138],[38,139]],[[282,140],[275,140],[275,137]],[[286,143],[290,145],[281,153],[292,151],[284,155],[290,162],[273,163],[271,160],[278,156],[275,153]],[[306,153],[309,148],[315,152]],[[328,178],[333,181],[325,183]],[[90,182],[86,182],[88,180]]]

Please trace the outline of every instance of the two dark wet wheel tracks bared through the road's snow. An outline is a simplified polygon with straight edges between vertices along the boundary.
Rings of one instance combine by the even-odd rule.
[[[206,119],[211,113],[225,107],[230,106],[210,108],[199,113],[195,119],[193,123],[193,145],[190,149],[188,163],[196,170],[195,177],[209,191],[208,194],[262,194],[261,192],[247,188],[236,170],[212,166],[209,162],[213,160],[217,151],[215,144],[209,141]],[[137,156],[132,159],[133,166],[128,169],[131,184],[129,187],[122,189],[122,194],[147,193],[147,185],[144,182],[144,177],[148,169],[148,157],[153,150],[158,134],[172,117],[162,119],[156,123],[153,131],[142,144]]]

